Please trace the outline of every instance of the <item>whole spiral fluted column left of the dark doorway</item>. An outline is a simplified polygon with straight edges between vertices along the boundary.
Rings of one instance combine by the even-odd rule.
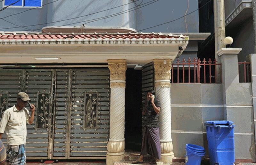
[[[107,165],[121,161],[124,155],[124,103],[126,60],[108,60],[110,70],[110,136]]]

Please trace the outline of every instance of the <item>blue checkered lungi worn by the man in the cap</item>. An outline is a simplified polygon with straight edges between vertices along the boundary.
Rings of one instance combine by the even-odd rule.
[[[7,161],[10,165],[24,165],[26,163],[26,151],[25,151],[25,145],[7,145],[7,152],[8,151],[14,151],[16,152],[16,155],[12,156],[11,158],[8,157],[7,154]]]

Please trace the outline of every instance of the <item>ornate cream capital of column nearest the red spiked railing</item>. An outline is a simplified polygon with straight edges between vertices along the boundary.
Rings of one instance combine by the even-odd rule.
[[[153,61],[155,68],[155,86],[170,88],[172,59],[166,59],[166,64],[164,64],[164,59],[154,59]]]

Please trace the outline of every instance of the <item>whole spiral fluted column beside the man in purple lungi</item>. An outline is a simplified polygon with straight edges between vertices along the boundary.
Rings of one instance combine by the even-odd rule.
[[[159,113],[161,161],[164,163],[171,163],[174,157],[171,134],[171,67],[171,59],[166,59],[166,63],[164,59],[154,59],[156,97],[161,103]]]

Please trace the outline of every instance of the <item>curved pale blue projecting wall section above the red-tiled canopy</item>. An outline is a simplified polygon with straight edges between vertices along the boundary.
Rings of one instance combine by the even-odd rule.
[[[67,18],[80,17],[80,16],[91,14],[91,13],[95,13],[98,11],[107,10],[109,8],[113,8],[116,6],[128,4],[130,2],[131,1],[129,0],[122,0],[122,1],[120,0],[100,0],[100,1],[76,0],[75,3],[74,3],[74,0],[60,1],[60,2],[53,3],[48,7],[47,22],[53,22],[53,21],[67,19]],[[82,21],[82,23],[75,23],[69,26],[74,26],[74,25],[81,26],[82,24],[85,24],[87,26],[123,26],[123,27],[134,28],[134,25],[132,25],[132,23],[130,25],[129,12],[115,16],[115,17],[111,17],[111,18],[101,19],[95,22],[89,21],[90,23],[87,23],[88,22],[87,20],[116,14],[116,13],[128,10],[129,8],[132,8],[132,7],[134,7],[134,4],[121,6],[115,9],[107,10],[104,12],[100,12],[97,14],[93,14],[93,15],[89,15],[89,16],[85,16],[77,19],[48,24],[47,26],[67,25],[70,23]]]

